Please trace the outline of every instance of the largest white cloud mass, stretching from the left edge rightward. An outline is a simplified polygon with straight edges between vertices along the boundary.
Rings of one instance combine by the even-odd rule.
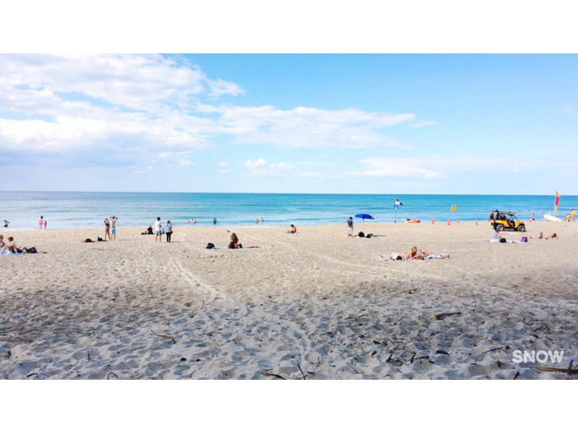
[[[222,135],[241,146],[403,148],[384,128],[429,122],[414,113],[219,104],[219,96],[245,90],[177,57],[42,54],[0,61],[0,153],[57,163],[155,165],[163,163],[160,153],[210,149]],[[261,158],[247,166],[265,164]]]

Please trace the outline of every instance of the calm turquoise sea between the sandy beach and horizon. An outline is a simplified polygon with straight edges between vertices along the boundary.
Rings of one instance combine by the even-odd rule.
[[[397,214],[396,197],[404,203]],[[176,226],[193,218],[200,226],[212,225],[213,218],[219,225],[255,225],[261,217],[266,225],[299,226],[344,223],[358,213],[371,214],[376,222],[430,222],[481,221],[496,208],[519,212],[523,220],[532,212],[540,220],[543,213],[554,211],[554,195],[0,192],[0,203],[0,222],[8,220],[15,230],[37,228],[41,215],[48,229],[54,229],[100,227],[112,215],[119,227],[145,227],[156,217],[171,219]],[[562,196],[558,215],[572,208],[578,208],[578,196]]]

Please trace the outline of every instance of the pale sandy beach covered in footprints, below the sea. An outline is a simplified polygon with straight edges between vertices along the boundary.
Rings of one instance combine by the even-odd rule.
[[[1,231],[39,253],[0,257],[0,379],[568,378],[512,358],[578,361],[578,223],[527,226],[559,238],[490,244],[488,222],[366,223],[378,236],[354,240],[345,222],[175,227],[172,243]],[[378,259],[412,246],[450,258]]]

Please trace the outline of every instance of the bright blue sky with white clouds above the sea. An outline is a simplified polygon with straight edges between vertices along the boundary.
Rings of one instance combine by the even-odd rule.
[[[0,55],[0,189],[578,194],[578,56]]]

